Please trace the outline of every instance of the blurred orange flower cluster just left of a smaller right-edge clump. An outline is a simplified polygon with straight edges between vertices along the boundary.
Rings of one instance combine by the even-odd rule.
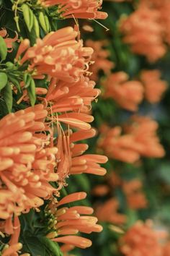
[[[128,74],[117,72],[103,82],[104,97],[113,98],[122,108],[137,111],[143,100],[143,85],[138,81],[128,81]]]

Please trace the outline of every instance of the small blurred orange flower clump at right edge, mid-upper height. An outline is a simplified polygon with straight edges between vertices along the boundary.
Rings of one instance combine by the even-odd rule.
[[[146,100],[150,103],[158,103],[167,89],[167,83],[162,81],[160,77],[161,72],[158,70],[145,70],[140,74],[140,80],[145,88]]]

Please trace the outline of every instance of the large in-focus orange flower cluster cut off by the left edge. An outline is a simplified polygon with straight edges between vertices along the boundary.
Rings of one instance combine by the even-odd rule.
[[[0,121],[1,202],[0,218],[10,222],[17,216],[38,208],[42,198],[54,190],[48,182],[56,181],[55,154],[48,148],[50,137],[45,134],[44,120],[48,112],[42,104],[4,116]],[[8,223],[5,230],[10,234]]]

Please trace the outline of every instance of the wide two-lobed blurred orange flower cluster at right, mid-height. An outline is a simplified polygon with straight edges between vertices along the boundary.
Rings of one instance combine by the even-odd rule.
[[[109,158],[127,163],[135,163],[140,156],[162,158],[165,151],[156,135],[157,129],[158,124],[151,118],[133,116],[131,124],[125,126],[125,135],[121,135],[121,127],[106,127],[98,146]]]

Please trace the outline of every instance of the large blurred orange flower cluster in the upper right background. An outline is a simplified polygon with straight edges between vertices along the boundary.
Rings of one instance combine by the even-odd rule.
[[[163,42],[164,29],[159,22],[160,12],[147,4],[140,4],[129,17],[122,18],[120,30],[125,35],[124,42],[130,44],[135,54],[146,56],[154,62],[166,53]]]

